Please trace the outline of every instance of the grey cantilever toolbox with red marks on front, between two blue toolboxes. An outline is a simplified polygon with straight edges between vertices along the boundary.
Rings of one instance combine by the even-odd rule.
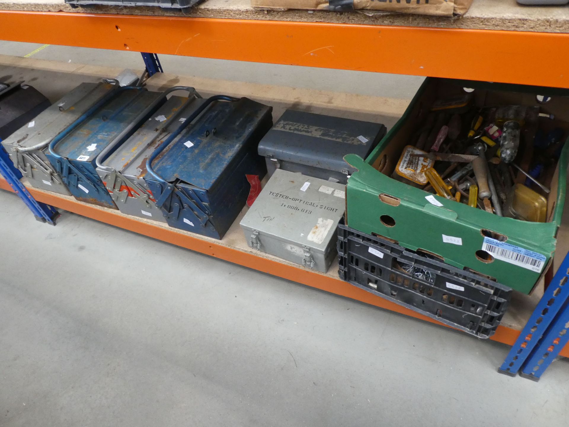
[[[178,90],[188,91],[190,96],[171,96],[116,150],[109,145],[97,157],[97,173],[123,213],[166,222],[144,180],[146,160],[204,101],[193,88],[171,88],[163,96]],[[112,154],[106,157],[106,151]]]

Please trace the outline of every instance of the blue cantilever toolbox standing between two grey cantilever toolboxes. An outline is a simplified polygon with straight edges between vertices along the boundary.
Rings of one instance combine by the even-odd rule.
[[[130,137],[164,101],[159,92],[116,86],[53,138],[46,156],[73,197],[117,209],[97,174],[96,158],[106,146]]]

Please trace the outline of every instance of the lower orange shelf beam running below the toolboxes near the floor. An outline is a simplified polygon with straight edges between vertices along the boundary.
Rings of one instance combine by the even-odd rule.
[[[1,177],[0,189],[13,192],[6,180]],[[27,187],[27,189],[30,191],[31,195],[38,200],[38,202],[47,203],[65,211],[77,213],[78,215],[86,216],[88,218],[101,221],[102,223],[114,225],[115,227],[152,237],[152,239],[162,240],[182,248],[191,249],[195,252],[200,252],[225,261],[233,262],[234,264],[258,270],[259,272],[282,277],[293,282],[311,286],[312,288],[325,290],[336,295],[341,295],[343,297],[365,302],[366,304],[381,307],[382,309],[395,311],[397,313],[447,327],[447,325],[443,325],[429,317],[415,313],[413,310],[406,309],[405,307],[387,301],[386,299],[372,295],[365,290],[356,288],[356,286],[352,286],[339,278],[332,278],[304,268],[282,264],[278,261],[256,256],[253,253],[240,251],[239,249],[230,248],[220,243],[202,239],[199,235],[180,232],[175,228],[167,228],[161,225],[150,224],[139,220],[137,217],[123,215],[119,211],[100,208],[93,204],[87,204],[75,199],[60,196],[56,193],[37,190],[33,187]],[[498,326],[496,334],[494,334],[490,339],[512,346],[514,342],[516,342],[519,332],[520,331],[509,327]],[[569,357],[569,346],[566,346],[560,354],[562,356]]]

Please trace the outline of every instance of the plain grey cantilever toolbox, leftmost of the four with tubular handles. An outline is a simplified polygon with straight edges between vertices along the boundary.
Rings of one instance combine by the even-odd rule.
[[[63,179],[46,157],[47,146],[58,134],[108,96],[113,85],[81,83],[34,120],[2,141],[11,161],[32,187],[69,195]]]

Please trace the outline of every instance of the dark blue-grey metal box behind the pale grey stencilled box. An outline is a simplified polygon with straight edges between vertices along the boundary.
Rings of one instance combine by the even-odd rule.
[[[366,158],[384,136],[382,124],[286,110],[259,143],[259,155],[269,175],[284,169],[345,184],[355,169],[344,156]]]

